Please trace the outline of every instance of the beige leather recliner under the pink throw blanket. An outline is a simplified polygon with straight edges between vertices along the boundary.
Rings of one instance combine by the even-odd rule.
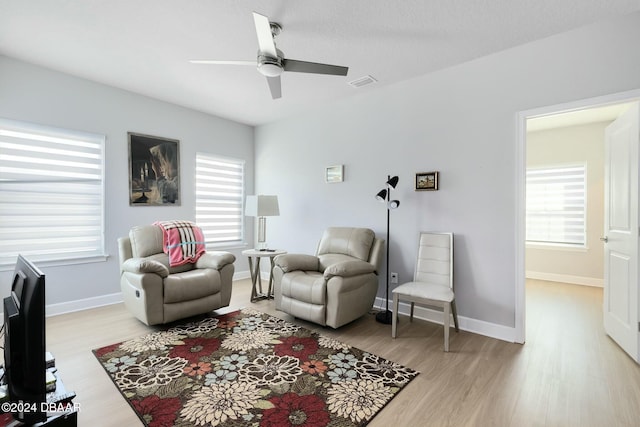
[[[162,235],[160,227],[143,225],[118,239],[120,287],[129,311],[156,325],[228,306],[235,256],[206,252],[195,264],[170,267]]]

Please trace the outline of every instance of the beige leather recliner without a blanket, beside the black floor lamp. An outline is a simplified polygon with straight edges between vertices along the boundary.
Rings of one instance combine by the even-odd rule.
[[[384,240],[368,228],[330,227],[316,255],[278,255],[276,309],[338,328],[366,314],[378,292]]]

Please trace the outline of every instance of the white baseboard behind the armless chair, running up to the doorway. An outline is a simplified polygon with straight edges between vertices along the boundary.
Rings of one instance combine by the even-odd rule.
[[[384,298],[377,297],[374,302],[374,307],[384,310],[385,300]],[[391,309],[392,303],[389,301],[389,309]],[[400,314],[409,316],[411,304],[400,302],[399,312]],[[427,320],[442,325],[442,312],[433,310],[426,307],[416,305],[413,312],[413,317]],[[453,317],[450,320],[453,326]],[[516,342],[516,330],[515,327],[509,327],[504,325],[497,325],[495,323],[485,322],[483,320],[472,319],[458,315],[458,326],[461,330],[472,332],[474,334],[484,335],[486,337],[499,339],[507,342]]]

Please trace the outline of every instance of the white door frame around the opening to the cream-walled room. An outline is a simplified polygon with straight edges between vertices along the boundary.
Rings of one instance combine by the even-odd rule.
[[[515,188],[515,330],[514,342],[526,341],[526,173],[527,173],[527,119],[553,116],[570,111],[586,110],[612,104],[640,101],[640,89],[612,93],[595,98],[581,99],[563,104],[548,105],[516,113],[516,188]]]

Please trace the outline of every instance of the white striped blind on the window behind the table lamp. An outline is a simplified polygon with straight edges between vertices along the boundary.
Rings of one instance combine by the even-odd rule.
[[[244,161],[196,154],[196,223],[207,245],[244,242]]]

